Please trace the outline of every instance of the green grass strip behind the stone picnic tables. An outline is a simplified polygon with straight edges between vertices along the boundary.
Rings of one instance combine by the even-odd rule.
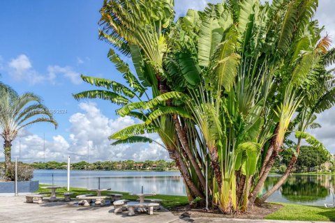
[[[40,184],[40,188],[37,192],[50,192],[49,189],[43,189],[42,187],[45,187],[47,185],[41,185]],[[57,189],[56,192],[60,192],[60,193],[64,193],[67,192],[66,187],[62,187]],[[74,192],[72,197],[76,197],[77,195],[80,194],[92,194],[95,192],[91,192],[87,189],[84,188],[78,188],[78,187],[70,187],[70,192]],[[102,192],[102,195],[105,194],[123,194],[124,196],[122,197],[123,199],[128,199],[128,200],[133,200],[135,201],[136,199],[138,199],[137,196],[131,196],[129,195],[129,193],[125,193],[125,192],[112,192],[112,191],[107,191],[107,192]],[[62,197],[62,196],[57,196],[57,197]],[[175,206],[185,206],[188,204],[188,199],[186,196],[175,196],[175,195],[163,195],[163,194],[157,194],[155,196],[151,196],[150,198],[152,199],[162,199],[163,200],[163,206],[165,208],[173,208]]]

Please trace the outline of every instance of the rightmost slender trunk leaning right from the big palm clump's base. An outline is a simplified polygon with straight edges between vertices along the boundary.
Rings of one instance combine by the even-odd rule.
[[[298,155],[299,155],[299,152],[300,152],[300,141],[301,141],[301,139],[299,139],[298,144],[297,144],[297,156],[296,155],[292,156],[292,158],[290,160],[290,163],[288,164],[288,168],[285,171],[285,174],[283,174],[283,176],[281,176],[281,179],[278,180],[278,182],[276,183],[276,185],[274,185],[274,187],[272,187],[270,190],[268,190],[260,199],[257,199],[255,201],[255,203],[265,202],[276,190],[279,189],[279,187],[281,187],[281,185],[283,185],[285,180],[291,174],[292,169],[295,167],[295,163],[298,160]]]

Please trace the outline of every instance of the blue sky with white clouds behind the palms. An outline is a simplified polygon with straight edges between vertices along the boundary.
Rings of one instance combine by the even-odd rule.
[[[176,0],[176,13],[183,15],[187,8],[202,9],[207,2]],[[110,133],[136,121],[117,117],[114,112],[117,106],[109,102],[77,102],[72,97],[72,93],[90,88],[80,81],[80,74],[122,82],[121,75],[107,59],[110,45],[98,40],[98,11],[102,3],[96,0],[0,1],[0,81],[19,93],[31,91],[40,95],[50,109],[66,110],[66,114],[54,114],[59,122],[57,130],[49,124],[38,124],[21,133],[23,161],[42,161],[43,134],[46,160],[64,160],[68,154],[77,161],[87,160],[87,140],[91,160],[168,159],[163,148],[156,145],[110,146],[107,141]],[[320,0],[317,17],[328,26],[330,34],[335,34],[332,0]],[[335,112],[320,117],[327,130],[335,126],[335,121],[327,121],[332,114]],[[327,130],[313,134],[333,148],[334,135],[329,135]],[[19,154],[19,148],[16,140],[14,156]]]

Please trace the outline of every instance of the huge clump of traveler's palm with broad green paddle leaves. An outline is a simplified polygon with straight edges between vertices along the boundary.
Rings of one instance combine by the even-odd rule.
[[[114,144],[151,142],[142,134],[157,132],[191,197],[203,197],[204,167],[211,163],[209,199],[225,213],[246,210],[290,132],[318,143],[304,132],[311,118],[292,127],[295,114],[313,116],[334,105],[334,77],[326,68],[335,53],[313,21],[317,6],[317,0],[224,1],[172,22],[168,0],[105,1],[101,37],[131,56],[136,75],[109,53],[133,92],[83,76],[109,91],[75,98],[123,105],[119,115],[143,123],[112,134]],[[153,97],[142,100],[149,88]]]

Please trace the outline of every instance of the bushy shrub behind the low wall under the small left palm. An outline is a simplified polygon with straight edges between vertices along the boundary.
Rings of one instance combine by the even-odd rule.
[[[28,164],[17,164],[17,181],[29,181],[34,176],[34,168]],[[6,174],[6,180],[15,180],[15,164],[11,164]]]

